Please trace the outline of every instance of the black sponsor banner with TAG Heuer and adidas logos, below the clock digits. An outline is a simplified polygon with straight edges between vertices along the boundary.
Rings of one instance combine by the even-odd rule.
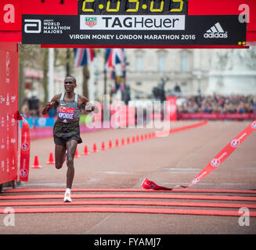
[[[22,43],[40,45],[246,45],[238,16],[23,15]]]

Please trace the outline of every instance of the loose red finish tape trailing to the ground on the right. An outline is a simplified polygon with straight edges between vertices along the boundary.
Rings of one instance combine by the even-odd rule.
[[[211,159],[211,162],[208,163],[208,165],[202,170],[197,177],[195,177],[191,183],[188,186],[182,186],[177,185],[175,187],[191,187],[193,184],[196,184],[200,180],[202,180],[204,177],[206,177],[209,173],[211,173],[213,170],[215,170],[218,166],[222,164],[222,162],[225,161],[231,155],[236,148],[238,148],[241,143],[252,133],[256,130],[256,120],[252,122],[248,127],[246,127],[240,134],[238,134],[236,137],[233,138],[232,141],[229,142],[228,145],[225,146],[225,148],[222,149],[221,152],[218,153],[218,155],[215,155],[213,159]],[[145,189],[153,189],[153,190],[172,190],[173,188],[170,187],[161,187],[157,184],[155,184],[153,181],[148,180],[145,178],[142,182],[142,187]]]

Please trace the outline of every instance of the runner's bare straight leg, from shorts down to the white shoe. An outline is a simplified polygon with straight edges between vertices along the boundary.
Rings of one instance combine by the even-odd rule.
[[[67,188],[72,187],[74,179],[74,154],[76,152],[78,141],[67,141]]]

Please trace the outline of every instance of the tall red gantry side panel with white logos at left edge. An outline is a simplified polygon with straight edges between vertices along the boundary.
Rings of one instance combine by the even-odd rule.
[[[0,42],[0,184],[17,179],[18,71],[17,44]]]

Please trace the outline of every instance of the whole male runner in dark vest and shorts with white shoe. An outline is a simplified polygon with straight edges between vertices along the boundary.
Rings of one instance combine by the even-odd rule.
[[[55,95],[51,102],[45,105],[42,114],[45,115],[54,105],[57,106],[57,119],[53,127],[56,169],[59,170],[63,166],[67,155],[67,190],[64,195],[64,202],[72,202],[74,154],[77,145],[82,142],[79,127],[81,109],[85,109],[86,112],[94,110],[98,112],[98,109],[95,105],[88,103],[88,98],[74,93],[74,88],[77,87],[74,77],[66,77],[64,87],[65,93]]]

